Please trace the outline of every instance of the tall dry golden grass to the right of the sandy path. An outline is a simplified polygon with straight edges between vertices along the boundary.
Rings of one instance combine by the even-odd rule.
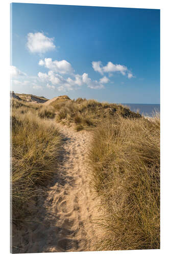
[[[97,250],[160,248],[160,118],[117,117],[96,128],[89,152],[102,197]]]

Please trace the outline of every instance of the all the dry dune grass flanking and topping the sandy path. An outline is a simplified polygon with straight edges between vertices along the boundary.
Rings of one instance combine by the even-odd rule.
[[[160,117],[120,104],[59,96],[50,105],[12,100],[12,207],[25,220],[39,185],[52,177],[60,134],[49,118],[91,130],[88,164],[104,213],[96,250],[160,248]]]

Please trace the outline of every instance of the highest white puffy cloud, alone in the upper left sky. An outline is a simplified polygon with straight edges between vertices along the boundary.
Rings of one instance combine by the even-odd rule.
[[[54,38],[49,38],[41,32],[28,33],[27,47],[32,53],[45,53],[55,49]]]

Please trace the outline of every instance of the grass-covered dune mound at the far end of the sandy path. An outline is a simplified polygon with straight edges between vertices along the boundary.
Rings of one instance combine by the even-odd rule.
[[[112,119],[118,115],[129,118],[141,117],[140,114],[136,114],[120,104],[101,103],[93,99],[78,98],[76,101],[57,99],[51,105],[57,111],[57,122],[64,119],[65,124],[81,125],[86,130],[92,129],[108,117]]]

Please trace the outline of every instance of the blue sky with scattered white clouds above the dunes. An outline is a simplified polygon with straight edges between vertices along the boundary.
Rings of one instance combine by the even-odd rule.
[[[15,93],[160,103],[160,10],[11,4]]]

